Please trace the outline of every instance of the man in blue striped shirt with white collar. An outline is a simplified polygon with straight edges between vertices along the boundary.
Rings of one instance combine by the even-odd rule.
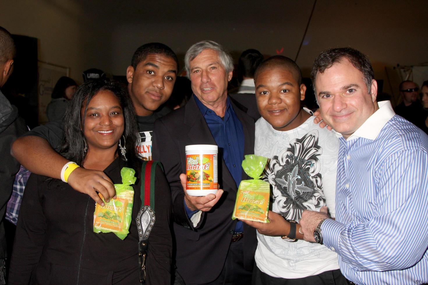
[[[377,103],[372,66],[351,48],[322,52],[312,82],[324,122],[336,130],[336,220],[304,211],[306,241],[338,253],[354,284],[428,282],[428,136]]]

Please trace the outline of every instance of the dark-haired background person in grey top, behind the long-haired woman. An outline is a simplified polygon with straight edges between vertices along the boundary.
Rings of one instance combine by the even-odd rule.
[[[62,120],[76,89],[77,84],[70,77],[62,76],[58,79],[52,90],[52,100],[46,109],[49,122]]]

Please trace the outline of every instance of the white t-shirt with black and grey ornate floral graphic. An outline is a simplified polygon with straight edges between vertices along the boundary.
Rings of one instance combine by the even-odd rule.
[[[335,213],[339,140],[313,123],[314,118],[283,132],[263,118],[256,122],[254,153],[270,159],[263,179],[272,185],[272,211],[297,222],[305,209],[327,206],[332,217]],[[257,238],[257,266],[270,276],[303,278],[339,268],[337,254],[324,245],[259,233]]]

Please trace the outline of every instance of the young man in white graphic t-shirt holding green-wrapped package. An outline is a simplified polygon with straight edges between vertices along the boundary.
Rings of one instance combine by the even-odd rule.
[[[253,284],[346,284],[337,254],[303,241],[298,224],[304,209],[327,206],[334,217],[339,141],[301,108],[306,86],[294,61],[270,57],[259,65],[254,80],[262,115],[254,151],[269,158],[263,179],[272,192],[270,223],[244,221],[258,229]]]

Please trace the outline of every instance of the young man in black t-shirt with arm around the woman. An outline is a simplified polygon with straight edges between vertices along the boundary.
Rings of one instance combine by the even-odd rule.
[[[139,47],[126,70],[128,92],[137,114],[140,141],[137,150],[143,159],[152,158],[152,132],[155,120],[168,110],[159,107],[171,96],[178,73],[178,59],[166,45],[149,43]],[[62,125],[48,123],[36,127],[18,138],[13,146],[13,156],[33,173],[60,179],[62,167],[68,160],[56,153],[62,142]],[[83,151],[83,150],[82,150]],[[96,191],[108,202],[116,194],[110,178],[102,171],[78,167],[68,177],[75,190],[89,194],[103,204]]]

